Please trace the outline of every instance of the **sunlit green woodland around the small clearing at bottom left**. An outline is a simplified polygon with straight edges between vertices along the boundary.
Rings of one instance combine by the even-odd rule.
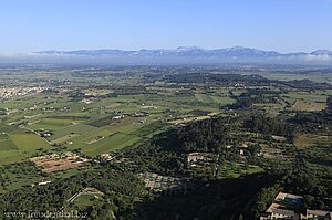
[[[46,186],[35,186],[28,190],[20,189],[6,193],[1,197],[0,212],[70,210],[73,205],[69,203],[68,199],[85,187],[97,188],[107,198],[101,206],[79,210],[82,213],[87,212],[89,219],[112,219],[113,214],[117,219],[132,218],[134,202],[144,190],[143,184],[132,172],[103,167],[56,180]]]

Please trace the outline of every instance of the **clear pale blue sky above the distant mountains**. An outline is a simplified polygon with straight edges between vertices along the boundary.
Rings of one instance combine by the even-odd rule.
[[[0,53],[332,50],[332,0],[0,0]]]

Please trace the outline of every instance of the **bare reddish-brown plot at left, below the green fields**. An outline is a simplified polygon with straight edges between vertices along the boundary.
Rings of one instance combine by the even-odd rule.
[[[53,172],[79,167],[89,160],[73,153],[65,153],[63,155],[52,154],[33,157],[30,161],[34,163],[44,172]]]

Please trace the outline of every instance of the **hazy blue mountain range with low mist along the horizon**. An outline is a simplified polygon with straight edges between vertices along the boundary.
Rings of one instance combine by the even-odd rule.
[[[39,51],[20,54],[1,54],[0,63],[68,63],[111,65],[168,65],[168,64],[319,64],[332,65],[332,51],[318,50],[311,53],[280,53],[245,46],[207,50],[197,46],[156,50],[76,50]]]

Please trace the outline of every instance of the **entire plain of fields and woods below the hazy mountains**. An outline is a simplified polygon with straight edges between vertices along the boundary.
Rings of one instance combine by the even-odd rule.
[[[319,190],[303,191],[330,207],[329,74],[293,81],[293,67],[11,71],[0,71],[3,90],[28,92],[0,99],[0,199],[8,209],[28,198],[95,219],[101,210],[151,219],[187,207],[184,219],[200,207],[238,219],[261,189],[299,190],[293,176],[314,179]],[[90,187],[98,195],[80,193]]]

